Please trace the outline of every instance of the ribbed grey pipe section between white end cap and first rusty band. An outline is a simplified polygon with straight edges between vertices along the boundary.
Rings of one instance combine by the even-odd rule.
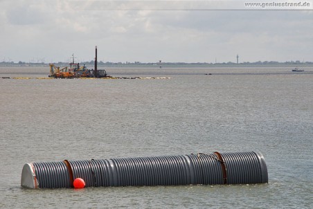
[[[63,162],[33,163],[39,188],[71,188],[69,171]]]

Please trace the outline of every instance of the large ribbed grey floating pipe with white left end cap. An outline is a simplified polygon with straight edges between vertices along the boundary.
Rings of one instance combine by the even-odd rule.
[[[73,180],[76,178],[84,179],[86,187],[268,182],[267,165],[259,152],[214,152],[26,163],[21,172],[21,186],[73,188]]]

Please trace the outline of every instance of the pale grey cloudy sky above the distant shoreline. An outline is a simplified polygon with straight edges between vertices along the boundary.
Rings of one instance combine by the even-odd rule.
[[[312,0],[305,10],[147,1],[0,0],[0,62],[91,61],[95,46],[102,62],[313,62]]]

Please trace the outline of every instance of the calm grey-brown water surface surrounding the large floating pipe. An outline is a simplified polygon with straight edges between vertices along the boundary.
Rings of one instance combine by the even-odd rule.
[[[0,79],[0,208],[312,208],[312,68],[107,73],[171,79]],[[47,74],[48,68],[0,68],[0,77]],[[215,151],[261,152],[269,183],[20,187],[30,162]]]

